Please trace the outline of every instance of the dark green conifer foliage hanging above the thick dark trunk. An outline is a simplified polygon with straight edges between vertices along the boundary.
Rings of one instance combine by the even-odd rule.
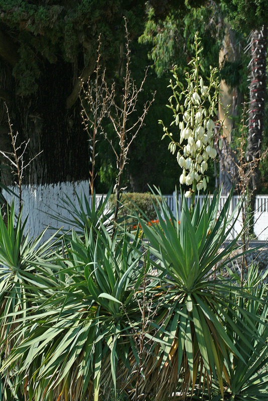
[[[77,57],[85,56],[85,60],[92,57],[100,32],[103,56],[111,62],[118,41],[124,37],[123,9],[129,19],[129,32],[135,34],[140,30],[144,4],[136,3],[133,5],[130,0],[108,3],[79,0],[64,4],[45,0],[21,0],[19,4],[17,0],[0,1],[2,29],[12,31],[16,42],[10,50],[16,53],[19,47],[19,61],[13,72],[19,92],[27,95],[37,91],[44,60],[73,63]]]

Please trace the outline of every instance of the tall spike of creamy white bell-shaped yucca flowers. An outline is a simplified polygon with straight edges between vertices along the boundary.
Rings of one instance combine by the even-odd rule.
[[[169,144],[170,151],[177,153],[179,165],[183,168],[180,176],[180,183],[190,186],[185,196],[194,195],[196,190],[206,189],[208,177],[206,170],[208,168],[208,159],[214,159],[217,155],[214,148],[215,123],[213,116],[217,115],[215,105],[218,99],[219,84],[215,78],[217,69],[210,69],[209,85],[204,85],[203,78],[199,76],[199,68],[203,71],[200,64],[199,38],[195,36],[196,56],[190,61],[193,66],[191,74],[186,73],[187,88],[184,90],[183,84],[179,81],[176,68],[173,71],[175,84],[170,81],[170,87],[173,95],[170,97],[169,108],[174,113],[174,121],[180,129],[180,139],[175,141],[172,133],[163,124],[164,135],[171,139]],[[181,104],[182,98],[184,104]],[[162,139],[163,139],[162,138]]]

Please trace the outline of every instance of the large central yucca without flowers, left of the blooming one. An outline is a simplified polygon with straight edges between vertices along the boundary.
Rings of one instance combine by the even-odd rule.
[[[138,235],[111,239],[105,227],[95,238],[93,227],[83,239],[73,233],[66,259],[50,266],[57,272],[58,291],[35,314],[21,319],[16,344],[4,371],[17,368],[27,377],[25,396],[41,400],[107,399],[124,389],[134,365],[142,330],[144,275],[150,267]],[[49,263],[40,262],[44,268]],[[60,290],[60,291],[59,291]],[[130,379],[135,391],[135,380]],[[99,398],[100,397],[100,398]]]

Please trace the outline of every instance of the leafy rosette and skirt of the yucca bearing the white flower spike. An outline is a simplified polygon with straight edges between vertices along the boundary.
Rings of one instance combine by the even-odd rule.
[[[226,247],[223,243],[235,224],[234,216],[239,214],[241,203],[229,216],[230,193],[217,217],[220,193],[215,194],[211,204],[207,197],[200,207],[198,200],[191,217],[183,198],[179,222],[161,196],[160,212],[156,207],[159,225],[150,226],[137,216],[151,253],[161,261],[160,276],[151,284],[154,302],[161,305],[152,323],[158,330],[154,341],[159,341],[159,351],[147,366],[148,378],[142,392],[147,394],[154,389],[157,400],[176,390],[186,396],[189,389],[194,391],[201,377],[209,389],[212,378],[217,377],[223,396],[228,355],[245,363],[243,347],[254,352],[252,340],[264,345],[254,325],[259,320],[255,311],[244,311],[234,301],[242,296],[239,286],[230,286],[212,271],[216,263],[216,270],[221,269],[224,262],[219,262],[237,248],[237,238]],[[161,291],[154,288],[159,284]],[[252,324],[242,329],[245,317]],[[229,337],[230,330],[239,335],[239,346]]]

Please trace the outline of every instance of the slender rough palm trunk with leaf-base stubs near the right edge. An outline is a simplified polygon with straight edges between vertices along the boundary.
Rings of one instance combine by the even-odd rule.
[[[249,75],[249,124],[246,149],[247,177],[251,212],[255,209],[255,197],[259,189],[259,160],[266,97],[267,28],[252,31],[250,35],[251,61]]]

